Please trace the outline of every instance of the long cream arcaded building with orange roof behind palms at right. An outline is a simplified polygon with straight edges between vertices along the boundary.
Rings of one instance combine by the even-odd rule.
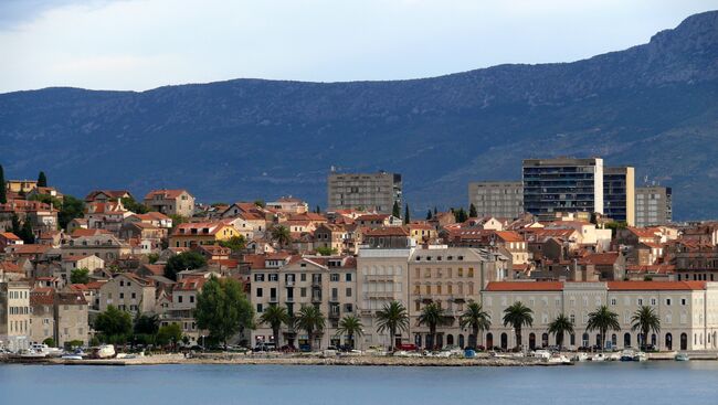
[[[718,284],[705,281],[509,281],[489,283],[482,294],[484,309],[492,316],[492,328],[483,344],[510,349],[515,333],[501,324],[504,310],[520,301],[534,311],[534,324],[522,330],[528,349],[556,344],[549,323],[563,313],[574,323],[576,333],[563,338],[569,349],[600,345],[598,331],[587,331],[589,315],[605,305],[619,316],[620,331],[609,331],[610,348],[638,348],[640,332],[632,330],[631,318],[642,306],[654,308],[661,318],[661,332],[651,333],[647,343],[659,350],[715,350],[718,348]]]

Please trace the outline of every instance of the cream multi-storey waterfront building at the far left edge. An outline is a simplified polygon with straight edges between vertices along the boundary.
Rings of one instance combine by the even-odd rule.
[[[30,345],[30,284],[0,279],[0,347],[17,352]]]

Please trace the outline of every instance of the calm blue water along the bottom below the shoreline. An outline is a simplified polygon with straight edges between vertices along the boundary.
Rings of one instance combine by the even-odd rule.
[[[718,362],[566,367],[0,365],[0,404],[716,404]]]

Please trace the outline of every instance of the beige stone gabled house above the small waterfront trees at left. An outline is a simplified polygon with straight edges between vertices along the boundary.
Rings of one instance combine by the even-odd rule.
[[[99,311],[115,306],[123,311],[148,313],[155,311],[155,284],[131,273],[122,273],[99,287]]]

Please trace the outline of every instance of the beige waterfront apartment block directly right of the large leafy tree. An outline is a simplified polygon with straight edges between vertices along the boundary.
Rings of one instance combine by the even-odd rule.
[[[351,256],[267,255],[264,268],[251,270],[252,303],[257,318],[271,306],[283,306],[296,315],[306,306],[316,306],[324,313],[326,328],[314,334],[284,328],[278,347],[314,348],[351,344],[346,335],[337,335],[339,320],[357,315],[357,262]],[[273,340],[268,324],[260,323],[252,331],[252,344]],[[355,342],[358,347],[359,342]]]

